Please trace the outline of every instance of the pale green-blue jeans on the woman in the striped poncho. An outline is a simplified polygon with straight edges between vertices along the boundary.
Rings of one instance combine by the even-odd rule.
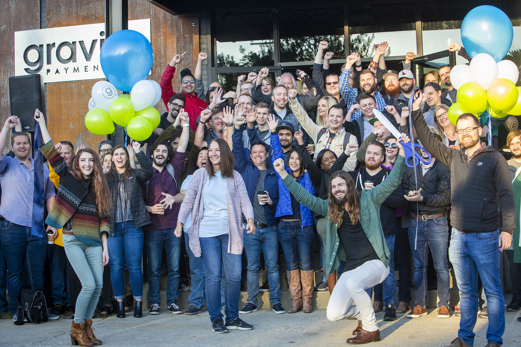
[[[76,299],[75,323],[92,319],[103,288],[103,247],[91,246],[73,235],[63,236],[65,253],[81,281],[81,292]]]

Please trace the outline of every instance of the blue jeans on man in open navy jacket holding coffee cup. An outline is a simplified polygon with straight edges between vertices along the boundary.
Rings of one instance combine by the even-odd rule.
[[[268,273],[269,301],[272,305],[280,304],[279,277],[279,239],[277,227],[257,228],[254,234],[243,235],[244,249],[248,259],[248,299],[255,306],[258,304],[259,266],[261,265],[261,250],[264,254],[264,264]]]

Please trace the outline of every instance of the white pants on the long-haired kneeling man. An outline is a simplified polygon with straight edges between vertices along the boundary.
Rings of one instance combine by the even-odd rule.
[[[365,262],[356,269],[344,272],[331,293],[327,319],[359,319],[364,330],[378,330],[373,304],[365,290],[383,282],[387,275],[389,268],[380,260]]]

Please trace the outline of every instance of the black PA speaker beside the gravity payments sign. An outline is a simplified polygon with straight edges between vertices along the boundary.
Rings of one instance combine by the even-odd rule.
[[[43,81],[39,74],[9,77],[11,115],[20,118],[23,131],[34,131],[34,110],[45,115]]]

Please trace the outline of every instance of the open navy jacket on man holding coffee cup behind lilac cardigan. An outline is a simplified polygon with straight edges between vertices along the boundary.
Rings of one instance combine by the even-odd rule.
[[[242,132],[243,129],[234,129],[232,135],[232,154],[235,159],[235,170],[241,174],[244,184],[246,185],[246,190],[248,191],[248,197],[252,204],[258,204],[255,186],[257,185],[259,169],[253,164],[250,158],[250,151],[243,147]],[[279,184],[271,162],[266,161],[266,168],[268,171],[266,172],[266,178],[264,180],[264,190],[268,192],[269,197],[273,201],[273,205],[270,206],[265,204],[264,213],[266,215],[268,226],[276,227],[279,224],[279,221],[275,217],[275,212],[279,203]]]

